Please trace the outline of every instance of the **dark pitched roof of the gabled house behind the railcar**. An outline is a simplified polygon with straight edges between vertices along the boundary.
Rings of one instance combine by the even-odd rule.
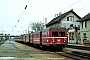
[[[59,21],[60,21],[62,18],[64,18],[66,15],[68,15],[70,12],[74,13],[78,18],[81,18],[80,16],[78,16],[78,15],[73,11],[73,9],[71,9],[70,11],[68,11],[68,12],[66,12],[66,13],[64,13],[64,14],[62,14],[62,15],[54,18],[54,19],[52,19],[49,23],[46,24],[46,26],[50,26],[50,25],[52,25],[52,24],[59,23]]]

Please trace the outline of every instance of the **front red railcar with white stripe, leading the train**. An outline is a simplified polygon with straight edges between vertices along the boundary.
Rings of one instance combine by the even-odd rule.
[[[60,28],[47,28],[42,31],[42,45],[63,48],[68,43],[67,30]]]

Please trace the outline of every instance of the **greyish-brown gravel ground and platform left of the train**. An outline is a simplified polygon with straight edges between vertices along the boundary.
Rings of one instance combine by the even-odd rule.
[[[42,51],[14,41],[6,41],[0,46],[0,60],[72,60],[55,54]]]

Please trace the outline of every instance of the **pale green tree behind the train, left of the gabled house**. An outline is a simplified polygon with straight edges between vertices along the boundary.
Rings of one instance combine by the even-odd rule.
[[[34,31],[41,31],[44,29],[45,25],[42,22],[33,22],[30,24],[32,30]]]

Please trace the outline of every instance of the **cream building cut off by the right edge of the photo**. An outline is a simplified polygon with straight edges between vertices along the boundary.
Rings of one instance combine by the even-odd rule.
[[[80,36],[82,43],[84,39],[90,41],[90,13],[85,15],[82,19],[77,20],[77,22],[80,23]]]

